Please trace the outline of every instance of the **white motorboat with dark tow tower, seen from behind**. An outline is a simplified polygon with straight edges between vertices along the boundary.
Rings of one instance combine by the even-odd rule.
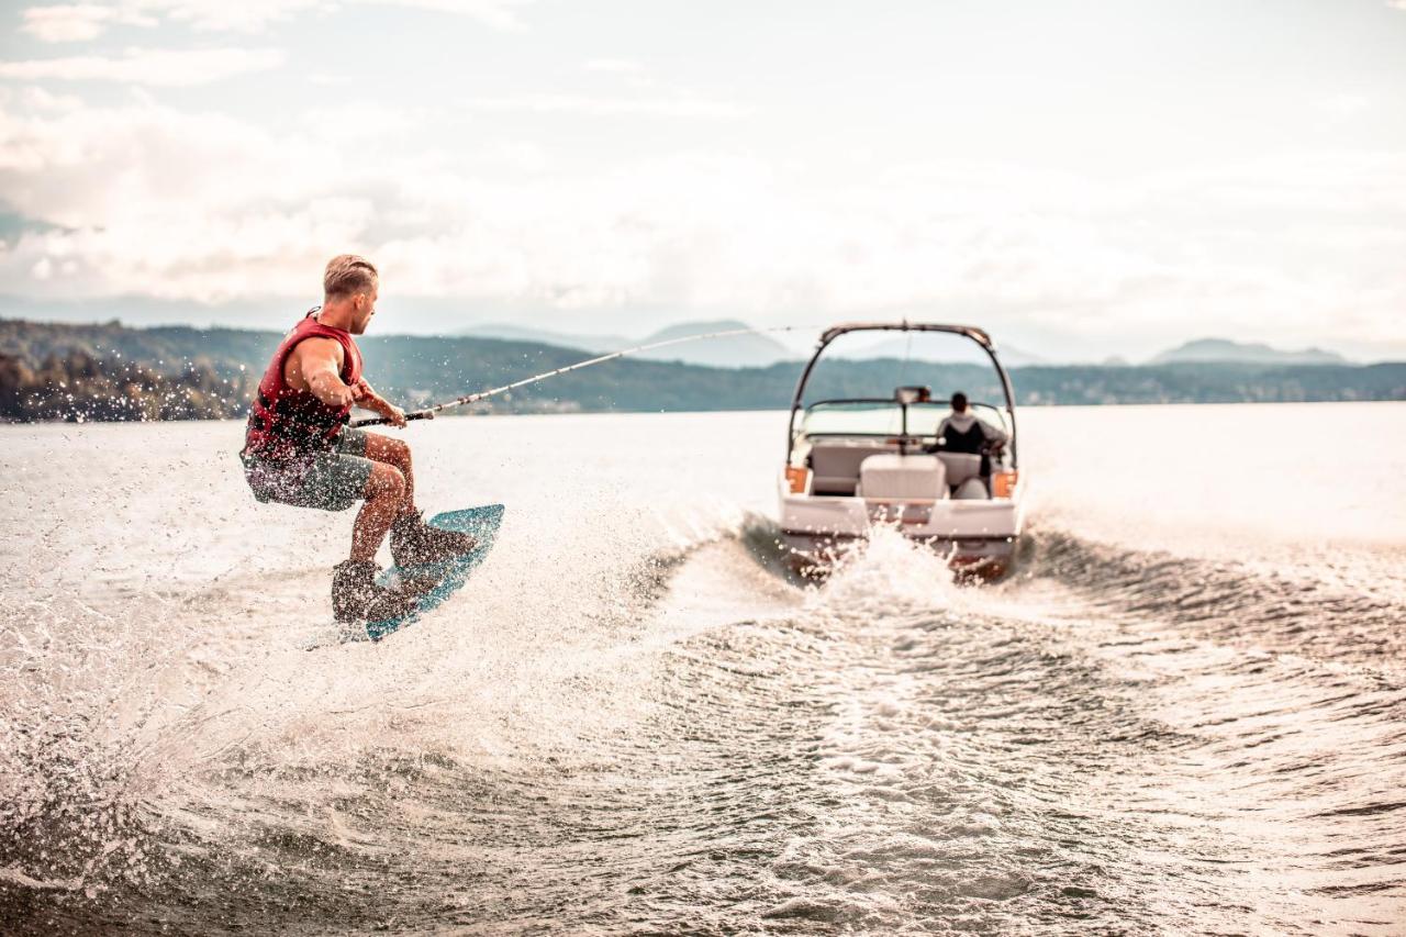
[[[945,342],[956,336],[965,353],[988,360],[1004,404],[972,400],[967,407],[1000,431],[991,436],[1007,438],[1004,445],[953,452],[949,440],[938,436],[952,415],[949,402],[935,400],[928,385],[901,383],[911,374],[908,360],[893,362],[900,383],[889,395],[810,400],[817,395],[817,364],[827,350],[842,336],[866,332],[898,332],[910,343],[914,335],[939,335]],[[870,370],[876,367],[880,364],[870,363]],[[927,367],[935,378],[955,370],[935,362]],[[995,383],[987,387],[994,390]],[[782,546],[790,566],[803,575],[824,575],[883,525],[946,556],[962,578],[1004,575],[1024,525],[1025,480],[1018,456],[1011,378],[984,331],[934,322],[835,325],[820,336],[790,407],[786,461],[778,480]]]

